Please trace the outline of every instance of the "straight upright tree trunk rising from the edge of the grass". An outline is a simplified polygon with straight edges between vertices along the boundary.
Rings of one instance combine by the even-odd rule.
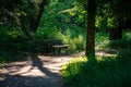
[[[85,55],[95,58],[95,12],[96,3],[94,0],[88,0],[87,5],[87,36],[86,36],[86,50]]]

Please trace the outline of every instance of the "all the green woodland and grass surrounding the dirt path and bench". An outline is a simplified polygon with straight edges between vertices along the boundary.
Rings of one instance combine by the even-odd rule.
[[[85,51],[63,66],[68,87],[131,86],[130,0],[0,0],[1,64],[26,52],[46,54],[47,39],[62,39],[69,54]],[[116,57],[98,61],[95,52],[107,49]]]

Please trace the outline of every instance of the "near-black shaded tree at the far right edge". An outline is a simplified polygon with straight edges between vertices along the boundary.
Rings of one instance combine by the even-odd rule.
[[[117,18],[117,27],[110,30],[110,39],[121,39],[122,29],[127,27],[130,28],[127,22],[131,18],[131,5],[129,0],[114,0],[110,2],[110,9],[112,11],[112,16]],[[131,21],[130,21],[131,22]],[[129,22],[129,23],[130,23]]]

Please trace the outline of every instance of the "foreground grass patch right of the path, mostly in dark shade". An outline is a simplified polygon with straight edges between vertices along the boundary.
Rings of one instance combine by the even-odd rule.
[[[67,87],[131,87],[131,49],[121,50],[118,57],[99,57],[91,63],[78,58],[66,64],[62,76]]]

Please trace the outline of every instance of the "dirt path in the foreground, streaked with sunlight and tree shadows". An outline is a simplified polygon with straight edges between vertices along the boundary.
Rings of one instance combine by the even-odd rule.
[[[26,61],[12,62],[0,69],[0,87],[64,87],[61,65],[71,55],[29,55]]]

